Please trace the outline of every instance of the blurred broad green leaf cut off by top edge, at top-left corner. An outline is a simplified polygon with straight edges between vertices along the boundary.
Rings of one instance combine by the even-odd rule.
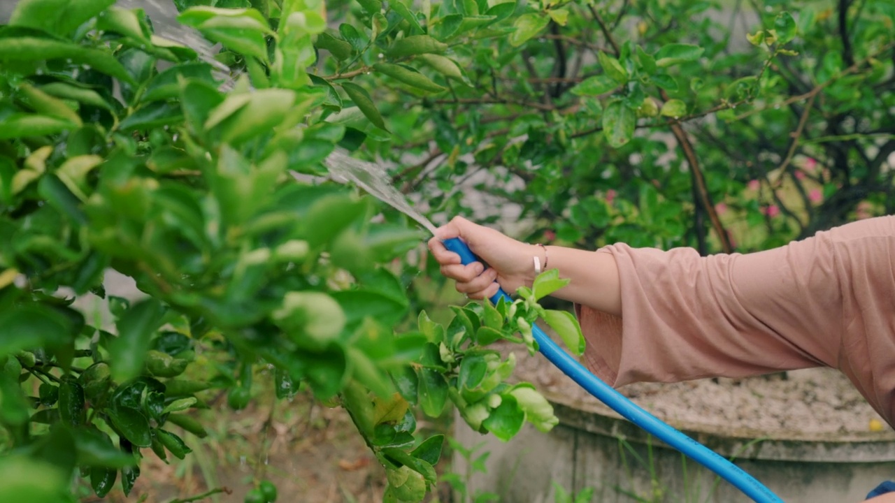
[[[21,0],[9,24],[64,37],[112,4],[115,0]]]

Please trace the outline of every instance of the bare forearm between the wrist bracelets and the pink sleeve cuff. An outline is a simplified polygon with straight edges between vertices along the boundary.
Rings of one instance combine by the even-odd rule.
[[[547,268],[558,269],[559,277],[571,282],[554,297],[579,303],[616,316],[621,315],[618,266],[611,253],[585,252],[562,246],[547,246]],[[536,247],[536,252],[544,251]],[[541,262],[543,263],[543,262]]]

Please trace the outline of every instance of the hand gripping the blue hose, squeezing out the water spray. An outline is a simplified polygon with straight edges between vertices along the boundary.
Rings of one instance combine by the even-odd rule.
[[[441,243],[459,237],[469,249],[488,263],[463,265],[460,256],[449,252]],[[519,286],[531,286],[534,280],[533,256],[543,260],[541,249],[532,244],[516,241],[494,229],[478,226],[463,217],[455,217],[446,226],[436,229],[429,241],[429,249],[441,264],[441,274],[456,281],[456,290],[471,299],[483,299],[497,294],[499,286],[507,293],[516,292]],[[497,283],[495,283],[497,281]]]

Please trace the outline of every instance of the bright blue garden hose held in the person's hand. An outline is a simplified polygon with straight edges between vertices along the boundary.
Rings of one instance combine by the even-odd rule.
[[[455,252],[460,256],[460,260],[464,265],[481,261],[466,246],[466,243],[459,238],[447,239],[444,241],[444,244],[447,250]],[[505,301],[512,301],[502,288],[490,298],[490,301],[497,304],[501,297]],[[678,451],[689,456],[696,463],[717,473],[722,479],[733,484],[734,487],[743,491],[746,496],[754,501],[758,503],[782,503],[782,499],[764,487],[762,482],[755,480],[752,475],[744,472],[737,465],[730,463],[712,449],[706,448],[703,444],[687,437],[684,433],[661,422],[659,418],[644,411],[644,409],[635,405],[634,402],[628,400],[626,396],[597,379],[595,375],[584,368],[584,365],[576,362],[569,354],[560,349],[537,325],[533,325],[532,332],[534,340],[538,342],[541,354],[546,356],[551,363],[572,378],[579,386],[586,389],[591,395],[596,396],[602,403],[609,405],[612,410],[621,414],[626,420],[643,428],[672,448],[678,449]]]

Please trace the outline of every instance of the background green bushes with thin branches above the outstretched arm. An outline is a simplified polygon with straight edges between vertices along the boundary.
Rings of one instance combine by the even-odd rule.
[[[719,252],[893,210],[887,0],[406,11],[346,5],[337,12],[358,21],[318,47],[334,55],[327,68],[370,73],[355,82],[393,134],[368,145],[413,154],[396,179],[446,214],[473,209],[477,187],[494,202],[480,219],[517,205],[533,223],[523,237]]]

